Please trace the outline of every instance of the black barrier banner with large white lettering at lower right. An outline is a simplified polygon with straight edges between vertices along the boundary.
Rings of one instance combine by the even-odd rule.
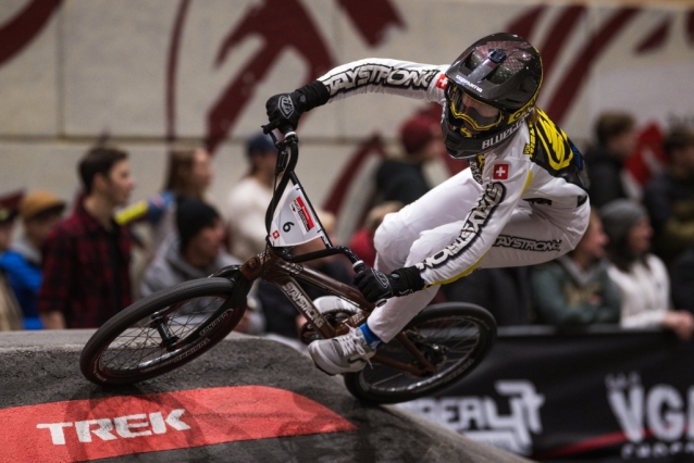
[[[499,329],[470,376],[400,406],[540,461],[694,462],[694,341],[536,331]]]

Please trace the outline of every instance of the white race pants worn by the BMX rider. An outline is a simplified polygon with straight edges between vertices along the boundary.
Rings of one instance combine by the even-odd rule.
[[[460,234],[468,212],[482,187],[466,170],[432,189],[399,212],[386,215],[376,230],[375,267],[384,273],[414,265],[450,245]],[[591,208],[586,201],[571,209],[553,209],[520,201],[511,218],[499,229],[486,232],[534,241],[560,241],[552,251],[494,246],[479,268],[534,265],[556,259],[575,248],[587,228]],[[461,268],[461,272],[464,268]],[[393,339],[434,298],[432,286],[401,298],[392,298],[369,317],[369,328],[384,342]]]

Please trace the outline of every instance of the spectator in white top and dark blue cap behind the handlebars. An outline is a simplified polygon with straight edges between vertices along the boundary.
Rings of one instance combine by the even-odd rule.
[[[269,135],[248,139],[246,158],[250,172],[232,189],[225,218],[230,250],[239,259],[249,259],[265,249],[265,211],[272,199],[277,149]]]

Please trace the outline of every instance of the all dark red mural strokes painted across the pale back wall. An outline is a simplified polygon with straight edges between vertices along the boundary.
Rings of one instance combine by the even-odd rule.
[[[345,14],[352,24],[354,38],[363,40],[371,48],[382,46],[387,40],[386,33],[389,28],[407,28],[396,0],[335,0],[335,2],[339,7],[337,11]],[[215,67],[224,64],[234,48],[241,41],[250,37],[260,37],[263,43],[248,63],[230,77],[228,84],[211,102],[207,111],[203,135],[212,152],[233,132],[259,84],[268,78],[272,65],[282,53],[288,50],[296,51],[306,60],[307,72],[303,82],[307,83],[338,64],[335,62],[329,40],[322,36],[321,29],[317,27],[305,3],[303,0],[255,2],[219,45]],[[20,53],[28,50],[30,43],[47,27],[62,4],[62,0],[27,0],[13,17],[0,24],[0,66],[8,65]],[[191,0],[179,1],[171,33],[165,82],[165,137],[169,140],[176,138],[176,75],[183,32],[191,4]],[[531,5],[509,21],[507,26],[508,32],[525,37],[541,50],[546,79],[558,79],[557,85],[554,86],[554,93],[544,99],[544,105],[548,114],[559,124],[566,120],[573,104],[579,100],[592,70],[605,51],[623,36],[625,29],[633,25],[641,13],[650,14],[650,10],[640,8],[615,8],[606,12],[599,25],[593,28],[586,27],[587,12],[588,9],[582,4]],[[683,30],[678,33],[683,33],[686,43],[694,47],[694,10],[689,10],[683,15],[683,22],[674,21],[676,12],[664,10],[660,14],[661,20],[654,21],[652,27],[645,27],[639,32],[633,43],[635,54],[653,53],[665,49],[674,36],[674,27],[679,24],[683,25]],[[281,27],[282,24],[290,24],[292,27]],[[586,30],[588,30],[587,34]],[[578,51],[572,52],[567,66],[559,68],[558,63],[562,54],[570,49]],[[432,111],[432,115],[436,116],[436,111]],[[376,135],[371,134],[370,137]],[[373,142],[370,137],[365,137],[368,140],[354,153],[352,162],[347,163],[347,168],[359,168],[355,160],[364,159],[364,157],[360,158],[360,153]],[[461,167],[461,164],[448,163],[451,174]],[[342,175],[339,178],[340,183],[335,185],[329,195],[327,205],[332,208],[339,203],[336,200],[339,191],[349,187],[343,184],[349,180],[348,175]]]

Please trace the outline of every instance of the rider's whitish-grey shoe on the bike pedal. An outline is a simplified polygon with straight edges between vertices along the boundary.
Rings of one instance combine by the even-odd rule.
[[[309,345],[313,363],[329,375],[356,373],[371,364],[375,353],[369,347],[361,329],[349,327],[349,333],[332,339],[321,339]]]

